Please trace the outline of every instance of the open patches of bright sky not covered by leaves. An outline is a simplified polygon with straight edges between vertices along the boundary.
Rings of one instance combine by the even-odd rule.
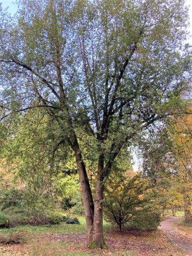
[[[13,0],[0,0],[0,2],[2,3],[2,7],[8,7],[8,11],[11,14],[14,14],[16,12],[17,9],[17,5],[16,3],[14,4],[15,1]],[[186,5],[189,6],[191,4],[191,6],[189,7],[189,17],[190,17],[190,24],[191,26],[189,27],[189,32],[192,35],[192,0],[185,0]],[[192,45],[192,37],[189,38],[188,43],[190,43]],[[135,162],[135,164],[133,164],[133,170],[137,171],[139,168],[139,160],[136,156],[135,153],[133,153],[133,160]]]

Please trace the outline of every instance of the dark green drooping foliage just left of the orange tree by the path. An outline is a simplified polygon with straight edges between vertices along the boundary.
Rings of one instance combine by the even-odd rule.
[[[171,152],[172,139],[165,125],[159,124],[159,128],[151,128],[139,134],[137,145],[140,148],[140,156],[143,159],[143,173],[153,183],[161,177],[170,178],[175,171],[175,158]]]

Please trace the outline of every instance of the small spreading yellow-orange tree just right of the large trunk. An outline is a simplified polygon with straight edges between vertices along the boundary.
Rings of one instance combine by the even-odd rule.
[[[141,229],[155,229],[160,223],[160,212],[155,194],[141,175],[112,176],[106,184],[104,212],[107,220],[119,225]],[[148,225],[148,226],[147,226]]]

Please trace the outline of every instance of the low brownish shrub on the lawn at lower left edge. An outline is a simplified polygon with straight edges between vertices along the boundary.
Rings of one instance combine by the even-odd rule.
[[[26,236],[23,231],[10,232],[6,236],[0,236],[2,244],[18,244],[26,242]]]

